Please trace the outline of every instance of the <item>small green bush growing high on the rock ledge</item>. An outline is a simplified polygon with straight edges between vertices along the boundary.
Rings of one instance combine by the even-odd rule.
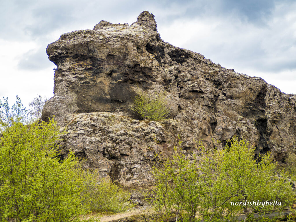
[[[155,94],[152,95],[138,88],[137,94],[138,95],[133,99],[133,110],[137,112],[141,118],[159,121],[168,116],[165,93],[155,92]]]

